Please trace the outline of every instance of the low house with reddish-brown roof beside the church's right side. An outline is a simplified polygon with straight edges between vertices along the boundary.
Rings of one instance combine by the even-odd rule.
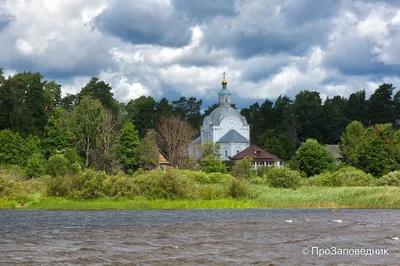
[[[245,158],[251,158],[253,160],[254,168],[259,168],[261,166],[274,166],[282,167],[284,166],[283,160],[279,159],[276,155],[273,155],[267,151],[264,151],[256,145],[251,145],[245,150],[239,152],[235,156],[231,157],[232,161],[239,161]]]

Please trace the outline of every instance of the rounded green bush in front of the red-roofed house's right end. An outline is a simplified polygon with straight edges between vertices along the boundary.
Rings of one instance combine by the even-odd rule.
[[[273,167],[268,171],[266,177],[271,187],[296,189],[301,183],[300,173],[286,167]]]

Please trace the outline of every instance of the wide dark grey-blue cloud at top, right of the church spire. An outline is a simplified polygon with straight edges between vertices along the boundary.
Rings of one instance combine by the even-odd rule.
[[[242,1],[238,17],[205,28],[205,45],[230,47],[241,58],[286,52],[302,55],[326,44],[338,1]]]

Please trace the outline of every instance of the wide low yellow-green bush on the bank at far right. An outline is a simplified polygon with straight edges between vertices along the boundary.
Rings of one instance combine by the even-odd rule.
[[[374,183],[375,179],[371,174],[366,174],[352,166],[343,167],[334,173],[316,175],[306,181],[307,185],[328,187],[370,186]]]

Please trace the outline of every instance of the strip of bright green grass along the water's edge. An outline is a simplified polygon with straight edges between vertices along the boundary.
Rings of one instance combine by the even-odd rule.
[[[21,202],[0,199],[0,209],[16,209]],[[400,209],[399,187],[301,187],[296,190],[251,186],[241,199],[149,200],[100,198],[77,200],[31,195],[22,209],[36,210],[152,210],[152,209],[244,209],[244,208],[357,208]]]

